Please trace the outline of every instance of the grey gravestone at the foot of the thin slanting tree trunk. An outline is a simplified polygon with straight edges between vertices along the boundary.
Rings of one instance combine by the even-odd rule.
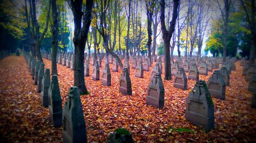
[[[119,91],[123,95],[132,95],[132,83],[127,68],[123,68],[123,72],[119,79]]]

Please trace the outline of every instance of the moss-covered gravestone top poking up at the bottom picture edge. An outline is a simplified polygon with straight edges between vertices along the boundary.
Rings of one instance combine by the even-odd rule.
[[[110,134],[107,143],[133,143],[132,133],[123,128],[115,129],[113,133]]]

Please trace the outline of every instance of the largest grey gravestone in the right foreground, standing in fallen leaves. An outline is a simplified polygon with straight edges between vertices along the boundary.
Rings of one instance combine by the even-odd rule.
[[[188,94],[185,118],[197,126],[202,126],[206,132],[215,128],[214,103],[205,81],[197,81],[194,89]]]

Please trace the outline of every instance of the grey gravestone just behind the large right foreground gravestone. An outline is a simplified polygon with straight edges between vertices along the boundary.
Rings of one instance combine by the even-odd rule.
[[[215,70],[214,73],[212,73],[207,81],[207,85],[210,95],[222,100],[225,99],[226,84],[220,70]]]

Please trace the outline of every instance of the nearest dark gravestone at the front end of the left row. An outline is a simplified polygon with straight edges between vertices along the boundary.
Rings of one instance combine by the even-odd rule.
[[[63,108],[62,138],[65,143],[87,142],[86,122],[77,87],[71,87]]]

